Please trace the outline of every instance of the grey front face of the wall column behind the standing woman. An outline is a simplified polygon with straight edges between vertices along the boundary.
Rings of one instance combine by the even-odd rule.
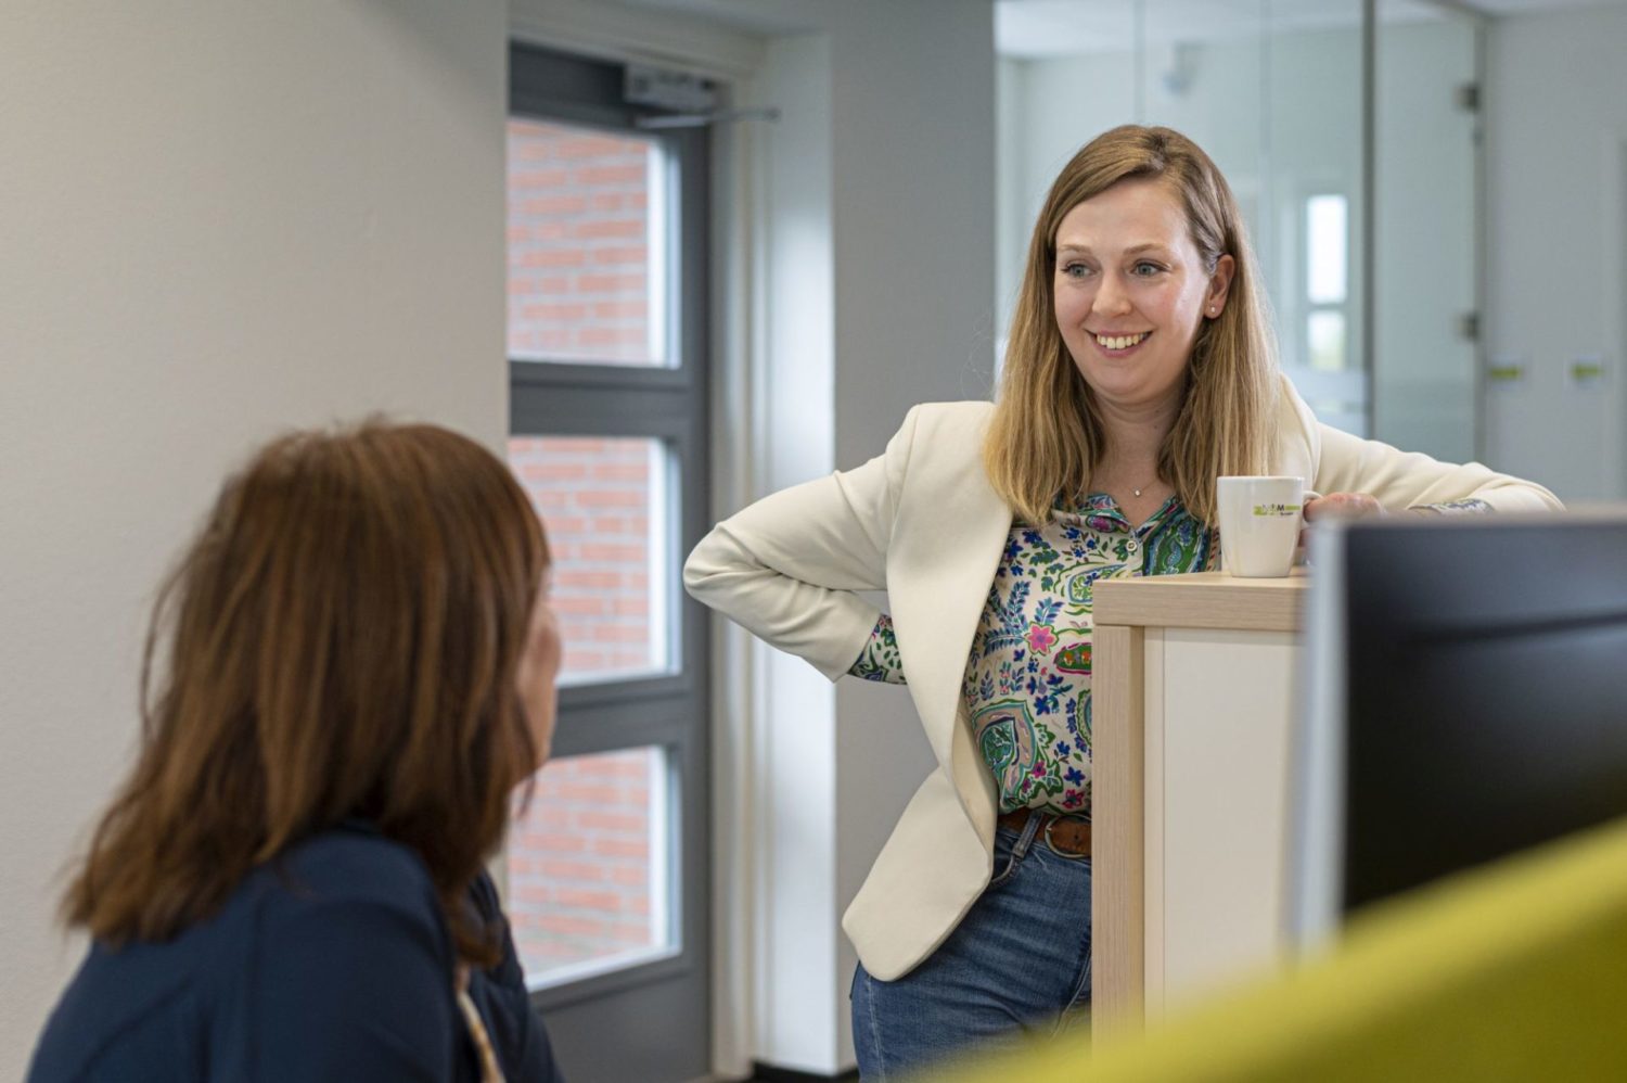
[[[988,0],[840,10],[835,448],[848,467],[880,454],[916,402],[992,391],[994,13]],[[844,681],[836,717],[844,910],[932,759],[905,689]],[[846,1065],[857,958],[846,936],[838,948]]]

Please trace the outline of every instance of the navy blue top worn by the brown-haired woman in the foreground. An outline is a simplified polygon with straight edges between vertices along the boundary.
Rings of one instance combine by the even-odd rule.
[[[508,922],[469,992],[509,1083],[558,1083]],[[456,953],[417,852],[364,824],[255,868],[166,943],[94,943],[34,1050],[29,1083],[345,1080],[478,1083],[452,989]]]

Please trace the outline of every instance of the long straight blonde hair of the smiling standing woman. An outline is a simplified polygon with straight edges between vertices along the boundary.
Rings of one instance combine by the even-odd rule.
[[[1090,140],[1051,184],[1028,243],[1017,311],[983,463],[994,490],[1028,523],[1058,497],[1084,493],[1106,451],[1095,392],[1056,326],[1056,231],[1079,204],[1126,181],[1160,181],[1186,210],[1206,274],[1237,264],[1225,308],[1202,321],[1158,477],[1201,523],[1215,521],[1215,479],[1264,474],[1274,441],[1276,344],[1266,295],[1232,189],[1196,143],[1165,127],[1126,124]]]

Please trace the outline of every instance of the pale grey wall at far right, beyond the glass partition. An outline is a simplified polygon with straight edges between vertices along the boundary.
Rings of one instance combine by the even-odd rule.
[[[1497,20],[1487,57],[1487,459],[1627,498],[1627,8]],[[1575,358],[1606,379],[1577,386]]]

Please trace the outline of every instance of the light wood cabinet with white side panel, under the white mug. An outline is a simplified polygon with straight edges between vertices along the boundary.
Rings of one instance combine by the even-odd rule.
[[[1141,1026],[1277,958],[1305,588],[1298,568],[1095,585],[1100,1028]]]

